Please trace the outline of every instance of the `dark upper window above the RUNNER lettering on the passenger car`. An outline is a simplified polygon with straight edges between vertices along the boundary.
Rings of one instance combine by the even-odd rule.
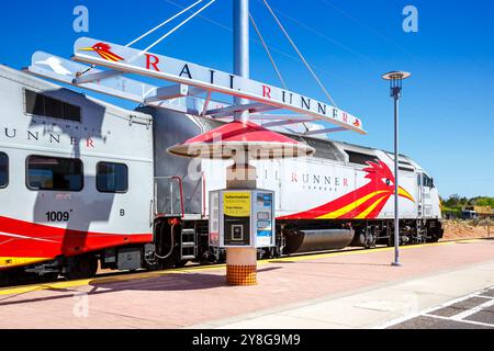
[[[80,107],[25,89],[25,113],[80,122]]]

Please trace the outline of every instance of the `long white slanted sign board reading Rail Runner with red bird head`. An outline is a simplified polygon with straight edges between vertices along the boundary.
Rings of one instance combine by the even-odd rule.
[[[115,70],[113,75],[110,72],[109,76],[94,77],[94,79],[114,77],[119,75],[119,71],[148,76],[176,83],[189,84],[206,91],[249,99],[278,109],[308,115],[316,120],[330,122],[345,129],[366,134],[360,118],[326,103],[271,84],[176,58],[87,37],[79,38],[75,43],[75,55],[72,58]],[[91,71],[86,75],[90,77]],[[82,79],[87,78],[87,76],[82,76]]]

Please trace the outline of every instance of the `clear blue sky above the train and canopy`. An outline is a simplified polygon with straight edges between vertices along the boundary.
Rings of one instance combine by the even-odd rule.
[[[176,13],[177,5],[190,3],[9,1],[0,14],[0,63],[27,66],[37,49],[70,57],[79,36],[126,44]],[[72,10],[79,4],[89,9],[89,33],[72,30]],[[428,170],[442,196],[494,196],[493,1],[270,0],[270,4],[338,106],[360,116],[369,132],[334,134],[335,139],[391,150],[392,101],[380,76],[394,69],[411,71],[402,101],[402,151]],[[418,33],[402,30],[407,4],[418,9]],[[325,101],[259,0],[251,0],[251,12],[273,47],[289,89]],[[232,2],[217,0],[203,18],[154,52],[232,71],[231,29]],[[136,47],[144,48],[161,33]],[[256,38],[254,31],[251,37]],[[254,41],[251,78],[279,84]]]

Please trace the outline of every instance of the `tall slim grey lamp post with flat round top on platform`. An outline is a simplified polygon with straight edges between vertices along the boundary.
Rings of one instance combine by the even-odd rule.
[[[400,196],[398,196],[398,102],[402,97],[403,80],[409,78],[412,75],[404,71],[391,71],[382,76],[384,80],[390,81],[391,97],[394,99],[394,262],[392,265],[401,267],[400,263]]]

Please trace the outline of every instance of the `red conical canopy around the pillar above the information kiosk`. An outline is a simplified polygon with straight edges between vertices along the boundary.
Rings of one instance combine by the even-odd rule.
[[[195,136],[170,147],[167,151],[181,157],[209,159],[231,159],[244,154],[256,160],[311,157],[315,152],[308,145],[252,122],[239,121]]]

